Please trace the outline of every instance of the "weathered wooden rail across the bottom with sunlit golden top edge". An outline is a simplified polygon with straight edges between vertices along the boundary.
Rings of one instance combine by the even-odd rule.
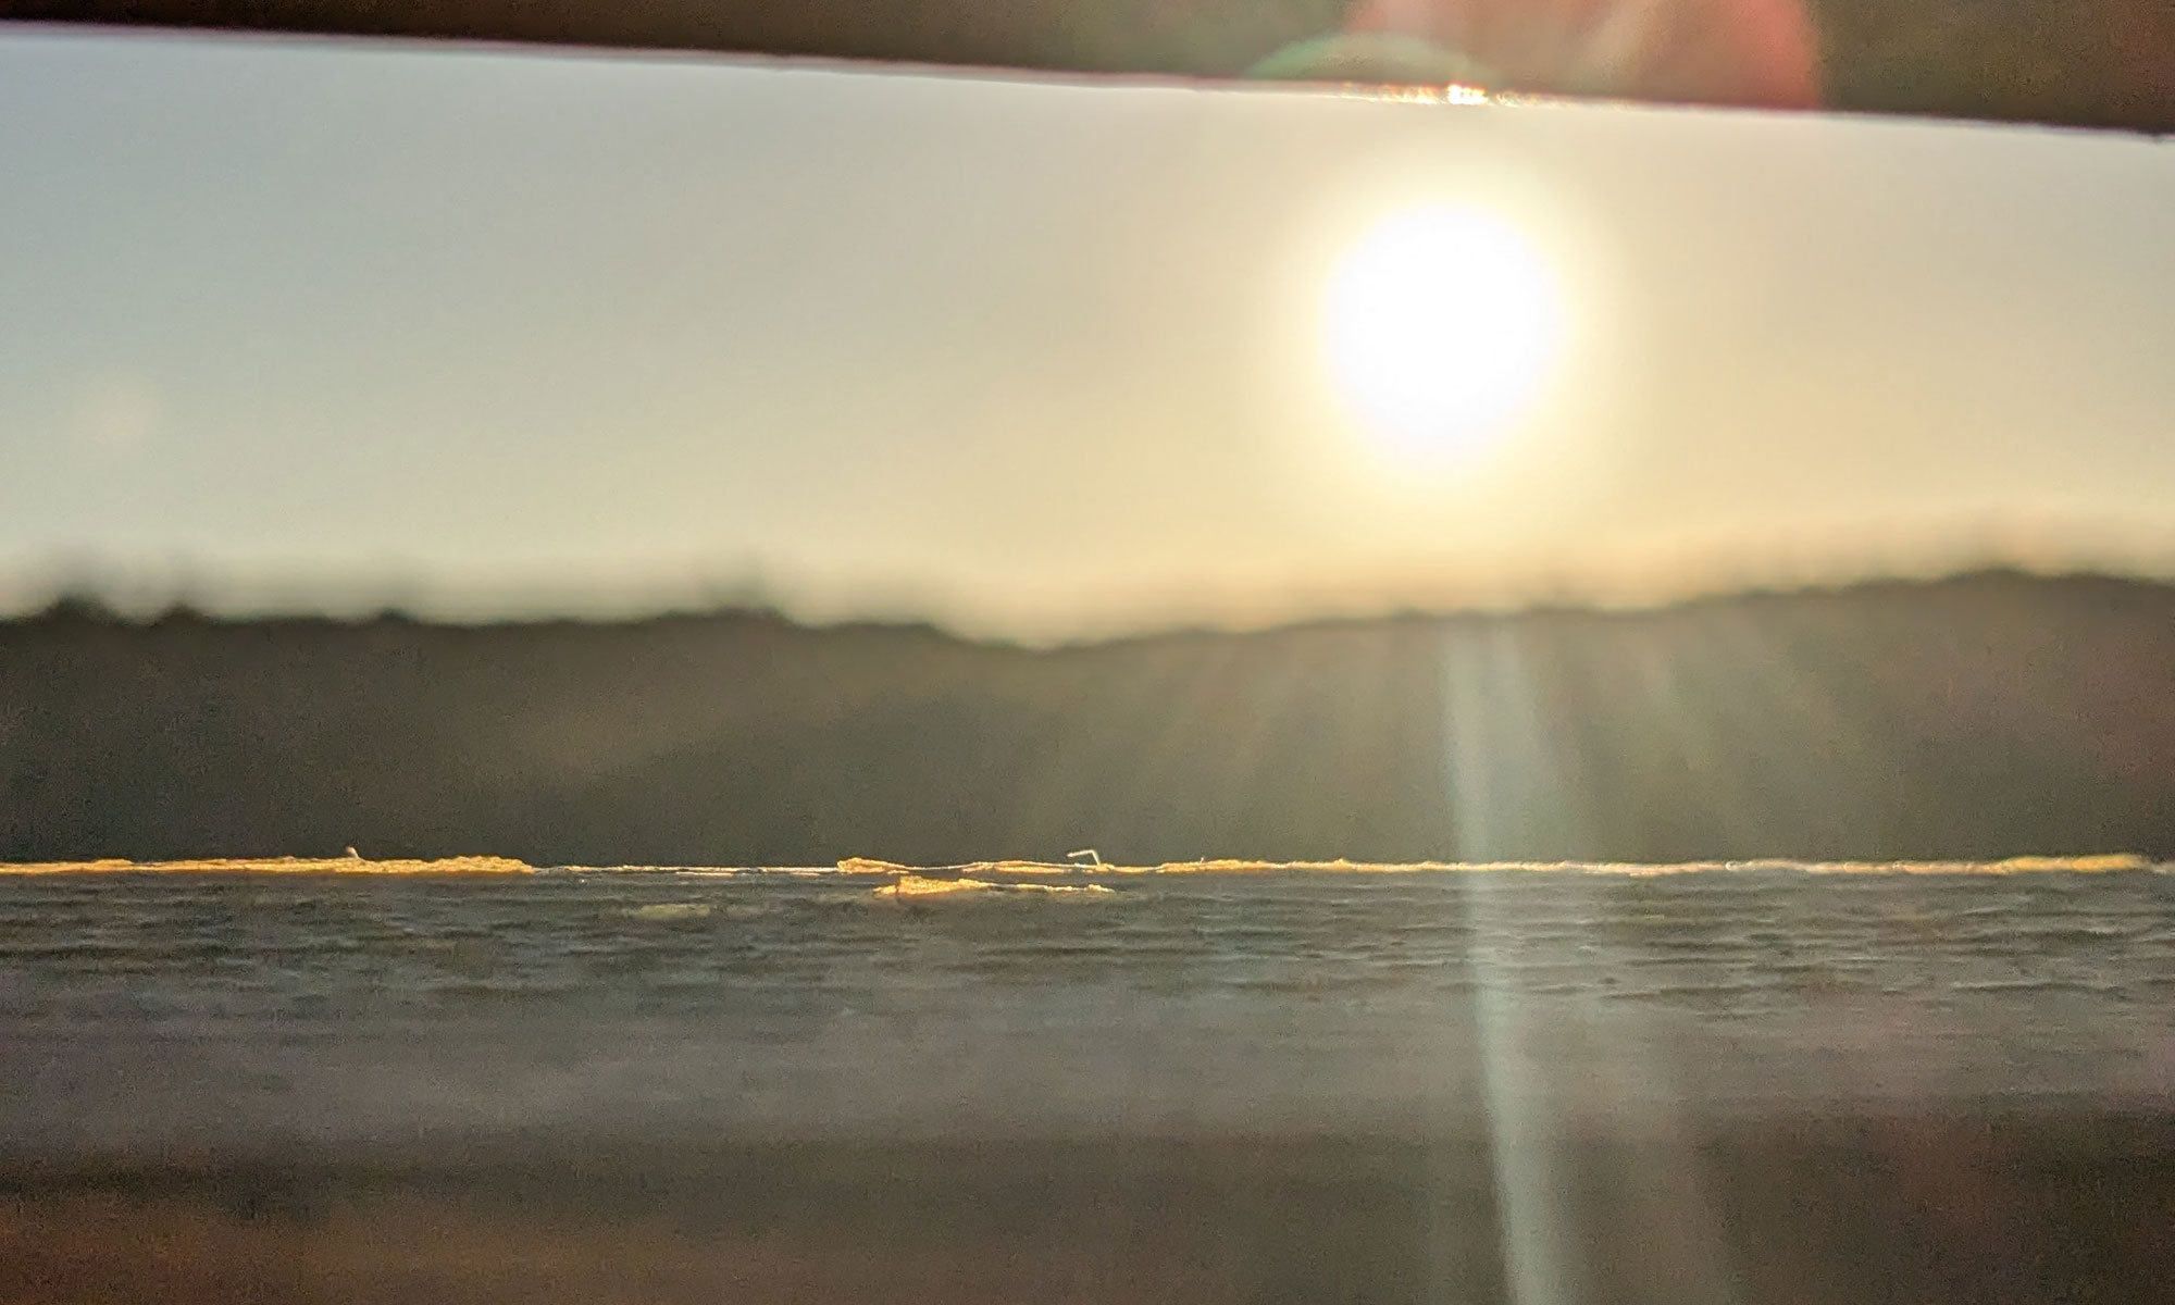
[[[0,879],[0,1301],[2175,1281],[2168,874],[883,883]]]

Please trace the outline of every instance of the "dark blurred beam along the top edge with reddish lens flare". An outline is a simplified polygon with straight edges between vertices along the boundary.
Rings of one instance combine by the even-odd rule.
[[[0,17],[2175,130],[2166,0],[0,0]]]

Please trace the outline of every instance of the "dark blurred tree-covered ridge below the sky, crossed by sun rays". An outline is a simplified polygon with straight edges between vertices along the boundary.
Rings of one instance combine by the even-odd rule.
[[[0,622],[0,859],[2175,857],[2175,587],[1022,650],[772,616]]]

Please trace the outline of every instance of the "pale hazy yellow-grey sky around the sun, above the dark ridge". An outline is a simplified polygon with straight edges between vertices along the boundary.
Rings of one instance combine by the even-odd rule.
[[[418,46],[0,35],[0,602],[1031,635],[2175,559],[2175,146]],[[1486,211],[1533,402],[1327,363]]]

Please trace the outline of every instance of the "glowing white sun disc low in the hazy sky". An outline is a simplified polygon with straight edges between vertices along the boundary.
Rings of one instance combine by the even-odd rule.
[[[1555,276],[1479,207],[1383,220],[1344,254],[1322,304],[1329,372],[1407,461],[1472,455],[1512,428],[1562,346]]]

